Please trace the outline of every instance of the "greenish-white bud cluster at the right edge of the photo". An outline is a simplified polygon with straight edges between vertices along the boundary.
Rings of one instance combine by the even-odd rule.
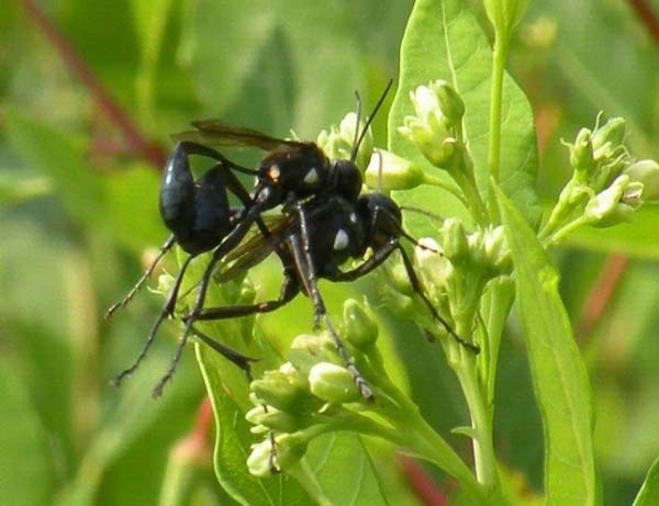
[[[625,145],[625,121],[581,128],[570,151],[573,175],[540,236],[554,241],[580,225],[612,226],[659,196],[659,164],[636,160]]]

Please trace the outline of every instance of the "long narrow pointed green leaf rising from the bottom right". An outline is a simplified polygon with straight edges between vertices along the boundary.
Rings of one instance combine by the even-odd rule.
[[[558,293],[559,277],[528,223],[495,187],[515,263],[535,396],[545,432],[549,506],[601,504],[588,373]]]

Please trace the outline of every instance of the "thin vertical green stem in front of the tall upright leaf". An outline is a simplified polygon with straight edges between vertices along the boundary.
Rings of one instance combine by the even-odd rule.
[[[501,157],[501,104],[503,100],[503,72],[507,58],[509,37],[500,31],[494,34],[494,54],[492,58],[492,88],[490,89],[490,144],[488,165],[490,177],[499,182]],[[498,215],[494,191],[490,188],[490,215]],[[494,221],[494,220],[493,220]],[[495,220],[496,222],[499,220]]]

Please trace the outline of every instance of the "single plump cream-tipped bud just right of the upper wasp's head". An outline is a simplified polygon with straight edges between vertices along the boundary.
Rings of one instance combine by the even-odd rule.
[[[384,149],[373,151],[365,176],[366,184],[382,191],[411,190],[424,179],[421,167]]]

